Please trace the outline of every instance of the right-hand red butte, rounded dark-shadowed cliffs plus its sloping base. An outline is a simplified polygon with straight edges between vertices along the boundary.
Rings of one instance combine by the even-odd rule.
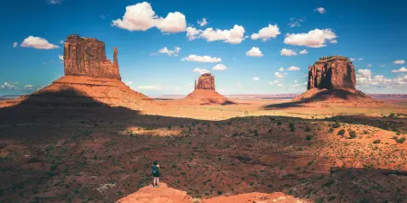
[[[308,90],[295,97],[298,103],[345,105],[382,104],[357,90],[355,67],[342,56],[322,57],[308,68]]]

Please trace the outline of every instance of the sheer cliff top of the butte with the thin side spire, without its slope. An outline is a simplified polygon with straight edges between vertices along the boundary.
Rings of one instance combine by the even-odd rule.
[[[105,43],[94,38],[71,34],[63,50],[65,75],[121,79],[118,71],[118,49],[114,49],[113,63],[106,58]]]

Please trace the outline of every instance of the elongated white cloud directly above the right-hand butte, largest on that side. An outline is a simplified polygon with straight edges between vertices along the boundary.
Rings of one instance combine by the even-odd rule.
[[[336,43],[336,34],[330,29],[315,29],[308,33],[288,33],[284,43],[296,46],[319,48],[327,46],[326,42]]]

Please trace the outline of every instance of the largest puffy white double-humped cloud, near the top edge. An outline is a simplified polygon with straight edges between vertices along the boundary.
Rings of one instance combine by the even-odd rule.
[[[112,22],[113,26],[128,31],[147,31],[152,27],[161,32],[184,32],[186,30],[185,15],[180,12],[168,13],[166,18],[158,17],[147,2],[128,5],[123,19]]]

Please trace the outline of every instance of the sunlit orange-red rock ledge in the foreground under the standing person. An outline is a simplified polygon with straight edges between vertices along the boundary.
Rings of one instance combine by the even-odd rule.
[[[229,197],[217,197],[200,200],[188,196],[185,191],[179,189],[168,188],[166,183],[161,183],[160,188],[154,188],[152,185],[139,189],[137,192],[128,195],[125,198],[120,198],[116,203],[161,203],[161,202],[176,202],[176,203],[251,203],[251,202],[279,202],[279,203],[307,203],[310,201],[294,198],[285,195],[282,192],[274,192],[265,194],[260,192],[251,192],[248,194],[240,194]]]

